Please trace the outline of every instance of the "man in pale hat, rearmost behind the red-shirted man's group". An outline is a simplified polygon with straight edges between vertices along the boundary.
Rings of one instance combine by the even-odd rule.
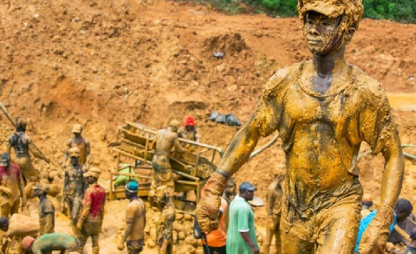
[[[67,145],[64,149],[64,160],[62,161],[62,167],[66,166],[67,160],[68,160],[68,151],[71,149],[71,147],[78,147],[80,149],[80,158],[79,161],[81,164],[88,166],[89,160],[91,158],[90,156],[90,147],[89,140],[87,138],[84,138],[81,134],[83,132],[83,127],[76,123],[72,127],[72,133],[73,138],[69,138],[67,140]]]

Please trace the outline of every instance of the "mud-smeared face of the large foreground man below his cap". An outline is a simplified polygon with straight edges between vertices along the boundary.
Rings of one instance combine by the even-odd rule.
[[[339,48],[343,42],[338,35],[342,16],[330,18],[319,12],[308,12],[305,17],[303,33],[311,53],[326,55]]]

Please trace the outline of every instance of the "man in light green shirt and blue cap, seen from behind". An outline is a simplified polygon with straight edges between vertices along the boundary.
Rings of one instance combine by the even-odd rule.
[[[254,213],[247,202],[253,199],[254,190],[256,188],[251,183],[241,183],[239,194],[229,205],[228,254],[259,254],[254,228]]]

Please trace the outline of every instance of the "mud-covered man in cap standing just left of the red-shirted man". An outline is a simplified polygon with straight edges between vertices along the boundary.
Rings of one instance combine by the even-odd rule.
[[[71,147],[68,150],[68,155],[70,163],[64,173],[64,198],[62,201],[67,203],[73,223],[73,234],[76,235],[78,213],[87,184],[83,177],[83,174],[85,173],[83,165],[79,163],[80,149],[78,147]],[[62,207],[64,207],[64,203],[62,203]]]

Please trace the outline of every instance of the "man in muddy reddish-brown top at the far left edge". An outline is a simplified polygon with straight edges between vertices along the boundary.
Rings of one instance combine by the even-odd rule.
[[[26,192],[20,167],[11,163],[10,154],[1,154],[0,161],[0,206],[1,217],[10,217],[19,212],[21,206],[26,206]]]

